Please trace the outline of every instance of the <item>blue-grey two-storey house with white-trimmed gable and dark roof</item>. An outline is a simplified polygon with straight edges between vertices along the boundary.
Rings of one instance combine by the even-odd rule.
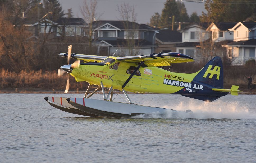
[[[129,21],[94,21],[94,43],[101,42],[100,55],[145,55],[153,51],[156,28]]]

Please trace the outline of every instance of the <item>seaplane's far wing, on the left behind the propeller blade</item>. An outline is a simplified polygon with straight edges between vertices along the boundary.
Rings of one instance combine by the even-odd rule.
[[[60,53],[59,56],[67,57],[67,53]],[[73,54],[71,54],[71,58],[81,59],[86,62],[101,62],[104,59],[106,59],[107,57],[106,56],[98,56],[98,55],[86,55],[86,54],[73,53]]]

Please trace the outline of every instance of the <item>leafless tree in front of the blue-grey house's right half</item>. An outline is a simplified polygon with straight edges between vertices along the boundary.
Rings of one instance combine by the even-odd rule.
[[[139,49],[139,25],[136,23],[137,14],[135,12],[135,6],[130,6],[129,3],[123,3],[117,6],[119,12],[119,20],[122,21],[125,30],[125,41],[121,46],[126,46],[128,55],[135,55]],[[123,52],[124,53],[124,52]]]

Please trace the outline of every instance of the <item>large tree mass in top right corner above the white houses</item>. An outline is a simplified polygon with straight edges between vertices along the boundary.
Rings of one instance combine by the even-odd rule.
[[[239,22],[256,12],[256,4],[252,0],[209,0],[205,9],[201,22]]]

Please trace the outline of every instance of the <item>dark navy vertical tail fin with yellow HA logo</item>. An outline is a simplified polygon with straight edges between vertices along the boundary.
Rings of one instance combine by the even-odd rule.
[[[223,65],[220,57],[214,57],[195,76],[194,80],[223,88]]]

